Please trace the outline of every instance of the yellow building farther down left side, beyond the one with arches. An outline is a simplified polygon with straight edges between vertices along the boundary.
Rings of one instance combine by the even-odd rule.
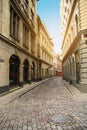
[[[54,44],[45,24],[41,21],[39,16],[37,16],[37,39],[38,77],[39,79],[43,79],[54,75]]]

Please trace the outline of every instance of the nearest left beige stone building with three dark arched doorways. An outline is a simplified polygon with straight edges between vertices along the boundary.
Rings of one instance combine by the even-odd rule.
[[[0,0],[0,93],[37,79],[36,0]]]

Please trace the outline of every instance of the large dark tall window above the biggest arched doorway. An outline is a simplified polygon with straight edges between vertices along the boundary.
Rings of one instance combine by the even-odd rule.
[[[18,39],[18,30],[19,30],[19,16],[11,7],[10,8],[10,34],[11,36]]]

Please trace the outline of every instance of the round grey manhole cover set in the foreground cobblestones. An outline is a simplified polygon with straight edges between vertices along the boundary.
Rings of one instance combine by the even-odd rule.
[[[48,116],[48,122],[52,125],[72,125],[75,123],[75,119],[70,115],[54,114]]]

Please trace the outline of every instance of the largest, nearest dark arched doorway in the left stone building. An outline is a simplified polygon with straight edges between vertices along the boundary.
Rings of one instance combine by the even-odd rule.
[[[9,84],[16,85],[19,83],[19,57],[12,55],[9,60]]]

